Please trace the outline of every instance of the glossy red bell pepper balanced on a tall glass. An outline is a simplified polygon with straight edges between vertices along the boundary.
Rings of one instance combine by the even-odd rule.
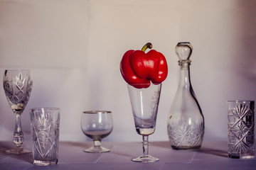
[[[166,58],[152,48],[150,42],[146,43],[142,50],[128,50],[124,53],[120,62],[120,71],[127,84],[136,88],[147,88],[151,82],[160,84],[168,74]]]

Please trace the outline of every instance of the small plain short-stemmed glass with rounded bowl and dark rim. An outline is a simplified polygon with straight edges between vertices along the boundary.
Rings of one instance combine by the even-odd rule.
[[[85,111],[81,118],[82,132],[90,137],[94,146],[85,149],[84,152],[102,153],[110,152],[110,149],[102,147],[101,140],[110,135],[113,129],[113,119],[111,111]]]

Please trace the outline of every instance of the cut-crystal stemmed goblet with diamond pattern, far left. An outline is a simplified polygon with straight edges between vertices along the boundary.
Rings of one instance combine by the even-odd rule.
[[[12,111],[16,115],[16,125],[14,129],[14,144],[16,148],[6,150],[6,154],[26,154],[30,153],[21,147],[24,142],[21,129],[21,114],[23,113],[33,86],[31,72],[28,69],[6,69],[4,71],[4,92]]]

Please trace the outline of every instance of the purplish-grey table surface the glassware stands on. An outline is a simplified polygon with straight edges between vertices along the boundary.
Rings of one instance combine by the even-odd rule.
[[[159,162],[138,163],[131,159],[142,154],[141,142],[102,142],[111,151],[102,154],[83,152],[92,142],[60,142],[59,162],[53,166],[33,165],[32,154],[4,154],[14,147],[12,142],[0,142],[0,169],[122,169],[122,170],[183,170],[183,169],[256,169],[256,159],[230,159],[227,142],[204,141],[201,149],[174,150],[169,142],[150,142],[149,154]],[[31,150],[31,142],[23,147]]]

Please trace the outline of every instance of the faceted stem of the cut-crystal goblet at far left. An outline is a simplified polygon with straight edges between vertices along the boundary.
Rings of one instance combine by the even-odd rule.
[[[14,129],[14,144],[16,145],[17,149],[21,149],[21,145],[24,142],[23,132],[21,129],[21,114],[15,113],[16,115],[16,124]]]

